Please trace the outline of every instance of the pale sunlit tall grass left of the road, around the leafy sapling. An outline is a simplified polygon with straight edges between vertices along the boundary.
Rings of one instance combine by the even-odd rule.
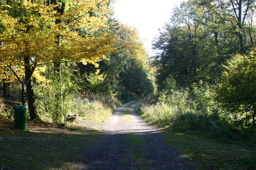
[[[110,97],[102,95],[87,95],[84,97],[74,96],[67,99],[68,114],[77,114],[80,121],[101,122],[106,121],[112,115],[112,112],[120,106],[120,102]],[[47,112],[47,107],[37,101],[38,112],[43,121],[53,122],[51,112]],[[63,118],[65,119],[65,118]],[[67,125],[67,121],[63,120]]]

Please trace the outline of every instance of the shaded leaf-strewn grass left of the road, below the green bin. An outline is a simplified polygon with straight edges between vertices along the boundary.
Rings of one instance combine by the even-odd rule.
[[[10,120],[0,117],[0,122],[0,169],[84,169],[84,159],[100,137],[83,127],[30,122],[28,131],[20,131]]]

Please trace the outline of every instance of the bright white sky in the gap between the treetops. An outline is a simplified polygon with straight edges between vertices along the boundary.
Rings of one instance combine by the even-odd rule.
[[[151,43],[164,23],[169,22],[172,9],[184,0],[116,0],[114,17],[123,24],[136,27],[150,54]]]

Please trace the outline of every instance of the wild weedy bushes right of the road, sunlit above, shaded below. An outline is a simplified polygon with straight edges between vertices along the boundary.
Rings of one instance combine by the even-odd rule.
[[[214,100],[214,90],[199,82],[187,89],[161,93],[156,104],[141,100],[142,116],[159,127],[200,134],[232,143],[255,144],[255,130],[237,128],[227,111]]]

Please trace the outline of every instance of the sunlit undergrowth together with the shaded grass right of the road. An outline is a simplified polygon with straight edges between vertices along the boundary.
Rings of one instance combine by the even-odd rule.
[[[163,128],[166,141],[202,169],[254,169],[255,129],[244,123],[243,114],[234,116],[218,105],[212,89],[200,82],[163,91],[141,100],[137,112]]]

